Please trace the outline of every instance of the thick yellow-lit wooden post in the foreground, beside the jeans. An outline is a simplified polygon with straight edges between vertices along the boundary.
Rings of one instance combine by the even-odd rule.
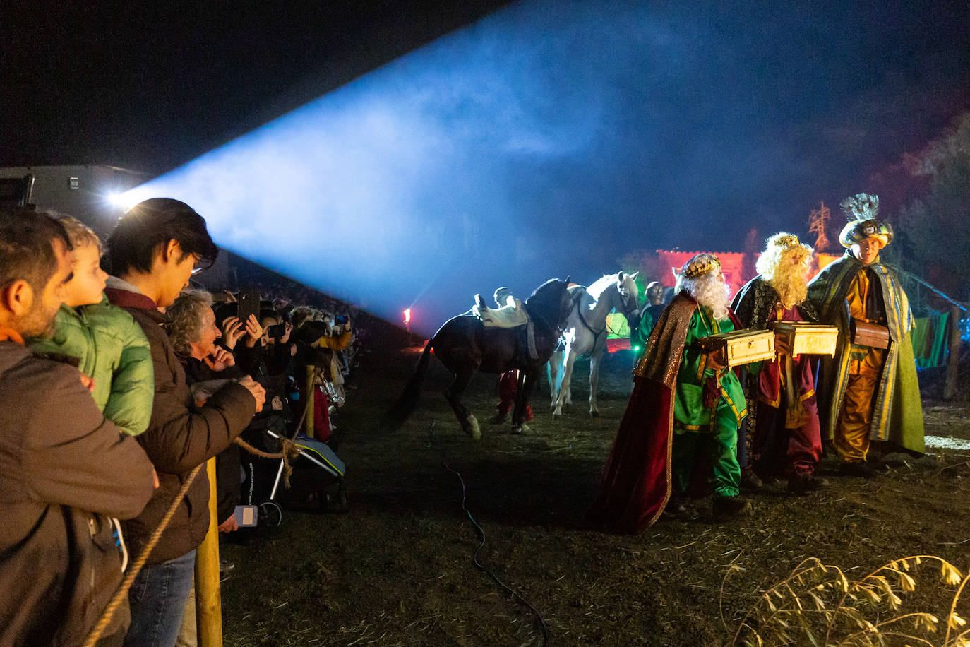
[[[209,534],[195,556],[195,621],[199,647],[222,647],[222,598],[219,594],[219,520],[216,509],[215,459],[209,472]]]

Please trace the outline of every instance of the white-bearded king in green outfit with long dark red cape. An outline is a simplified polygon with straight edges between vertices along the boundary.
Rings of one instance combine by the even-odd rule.
[[[737,374],[699,344],[738,323],[727,307],[721,262],[697,254],[682,277],[685,290],[663,310],[633,371],[633,393],[588,514],[594,523],[623,533],[643,531],[671,495],[679,500],[701,481],[711,492],[715,518],[750,507],[739,496],[736,455],[737,430],[747,414],[744,393]],[[695,299],[703,291],[699,284],[722,290],[720,317],[702,305],[706,299]],[[706,471],[697,469],[701,466]]]

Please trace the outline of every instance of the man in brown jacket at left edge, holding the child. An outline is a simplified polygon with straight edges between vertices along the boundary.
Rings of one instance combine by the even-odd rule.
[[[0,645],[78,645],[121,581],[110,517],[136,516],[151,463],[106,420],[77,369],[34,355],[71,275],[63,229],[0,211]],[[128,622],[115,613],[102,644]]]

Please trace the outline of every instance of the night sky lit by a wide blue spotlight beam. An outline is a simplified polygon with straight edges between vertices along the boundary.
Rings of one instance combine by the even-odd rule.
[[[970,110],[970,3],[704,4],[32,3],[0,22],[0,164],[166,174],[310,104],[159,186],[218,243],[434,329],[498,284],[804,235],[820,200],[880,193],[889,215],[919,190],[902,155]],[[278,139],[307,132],[312,155]],[[334,172],[290,169],[269,215],[189,189],[224,170],[242,195],[273,146]],[[328,235],[282,253],[239,232],[297,211],[302,243]],[[320,258],[370,267],[337,280]]]

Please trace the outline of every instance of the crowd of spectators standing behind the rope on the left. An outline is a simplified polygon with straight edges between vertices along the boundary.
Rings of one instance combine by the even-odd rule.
[[[210,528],[200,467],[216,458],[231,533],[255,477],[237,438],[336,450],[357,312],[250,285],[246,315],[240,293],[189,288],[217,253],[167,198],[129,210],[106,249],[70,216],[0,210],[0,645],[83,643],[143,553],[97,644],[176,644]]]

